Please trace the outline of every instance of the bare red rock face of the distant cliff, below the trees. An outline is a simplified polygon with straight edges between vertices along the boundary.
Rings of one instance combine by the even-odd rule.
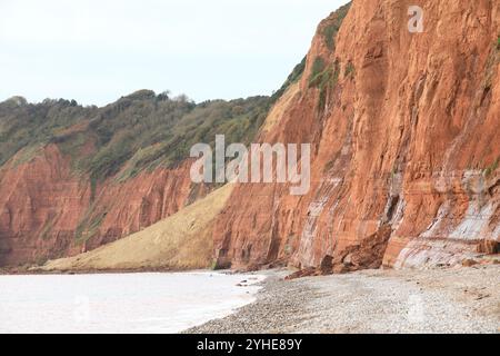
[[[92,192],[89,179],[74,175],[56,145],[30,162],[6,165],[0,182],[0,265],[8,266],[96,248],[170,216],[193,198],[187,162],[124,182],[110,178]]]

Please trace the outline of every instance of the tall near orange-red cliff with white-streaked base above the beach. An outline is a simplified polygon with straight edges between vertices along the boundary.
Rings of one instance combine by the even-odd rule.
[[[500,239],[500,2],[354,0],[318,28],[260,141],[311,142],[308,195],[239,185],[220,266],[456,264]]]

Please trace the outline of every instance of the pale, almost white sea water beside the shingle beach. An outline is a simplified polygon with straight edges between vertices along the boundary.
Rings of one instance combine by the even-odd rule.
[[[0,333],[178,333],[251,303],[261,279],[210,271],[3,275]]]

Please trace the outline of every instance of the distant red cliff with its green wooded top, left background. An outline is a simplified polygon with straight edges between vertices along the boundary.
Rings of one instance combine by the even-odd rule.
[[[189,148],[250,140],[269,98],[194,105],[139,91],[104,108],[0,103],[0,266],[41,264],[139,231],[204,197]]]

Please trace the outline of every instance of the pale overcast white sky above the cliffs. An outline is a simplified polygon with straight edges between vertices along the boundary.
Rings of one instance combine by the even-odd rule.
[[[0,101],[270,95],[347,0],[0,0]]]

